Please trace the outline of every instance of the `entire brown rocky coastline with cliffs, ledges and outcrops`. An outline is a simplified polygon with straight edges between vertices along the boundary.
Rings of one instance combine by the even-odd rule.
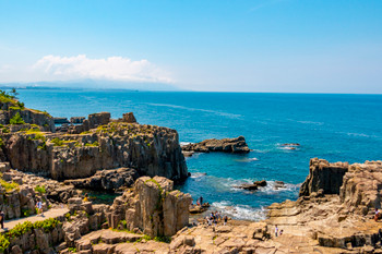
[[[182,153],[249,153],[242,136],[180,147],[175,130],[139,124],[131,112],[56,130],[48,113],[0,101],[0,253],[382,253],[382,161],[311,159],[297,201],[271,205],[263,221],[207,225],[190,219],[204,207],[174,190],[188,177]],[[122,195],[95,205],[81,189]]]

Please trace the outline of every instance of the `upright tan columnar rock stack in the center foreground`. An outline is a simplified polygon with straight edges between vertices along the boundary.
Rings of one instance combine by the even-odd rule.
[[[133,190],[115,199],[109,225],[118,228],[126,220],[129,230],[150,237],[170,237],[189,223],[191,195],[174,191],[172,181],[162,177],[142,177]]]

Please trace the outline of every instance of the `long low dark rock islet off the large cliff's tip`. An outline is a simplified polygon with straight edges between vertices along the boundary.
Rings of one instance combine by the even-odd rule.
[[[182,150],[184,152],[224,152],[235,154],[247,154],[250,152],[243,136],[236,138],[223,138],[223,140],[205,140],[195,144],[183,145]]]

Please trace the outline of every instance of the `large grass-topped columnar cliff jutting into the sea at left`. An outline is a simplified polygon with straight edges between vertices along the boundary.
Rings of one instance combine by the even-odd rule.
[[[175,181],[187,178],[175,130],[127,122],[102,124],[106,122],[103,116],[89,117],[89,124],[97,128],[81,134],[41,132],[33,125],[4,133],[0,155],[13,168],[60,180],[87,178],[97,170],[120,167],[134,168],[141,176]]]

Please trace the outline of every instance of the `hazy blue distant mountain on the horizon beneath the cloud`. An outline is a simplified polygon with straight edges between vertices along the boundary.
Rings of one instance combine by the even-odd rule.
[[[163,83],[139,83],[107,80],[51,81],[28,83],[0,83],[0,87],[9,88],[87,88],[87,89],[132,89],[132,90],[182,90],[181,88]]]

